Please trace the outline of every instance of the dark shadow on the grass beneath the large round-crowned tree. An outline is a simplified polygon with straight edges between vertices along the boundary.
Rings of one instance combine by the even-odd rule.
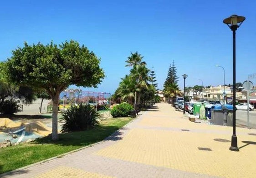
[[[36,138],[31,143],[36,144],[56,144],[61,146],[87,146],[92,143],[97,143],[102,140],[118,141],[122,138],[122,129],[117,126],[97,126],[85,131],[77,131],[70,133],[58,134],[59,140],[53,141],[52,135],[46,137]],[[126,129],[126,128],[123,128]],[[118,130],[118,131],[117,131]],[[116,131],[116,132],[115,132]],[[113,134],[114,133],[114,134]]]

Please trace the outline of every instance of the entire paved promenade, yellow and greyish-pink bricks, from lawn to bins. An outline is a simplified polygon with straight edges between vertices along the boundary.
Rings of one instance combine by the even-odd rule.
[[[156,104],[92,147],[35,164],[4,178],[255,178],[256,130],[190,122],[170,104]]]

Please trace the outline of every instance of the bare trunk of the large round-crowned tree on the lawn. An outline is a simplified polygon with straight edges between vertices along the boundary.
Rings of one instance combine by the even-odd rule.
[[[59,94],[56,94],[52,99],[52,140],[58,140],[58,107]]]

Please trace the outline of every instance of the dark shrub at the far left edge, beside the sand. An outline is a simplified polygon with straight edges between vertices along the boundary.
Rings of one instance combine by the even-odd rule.
[[[14,114],[21,111],[20,105],[14,99],[6,99],[0,106],[0,113]]]

